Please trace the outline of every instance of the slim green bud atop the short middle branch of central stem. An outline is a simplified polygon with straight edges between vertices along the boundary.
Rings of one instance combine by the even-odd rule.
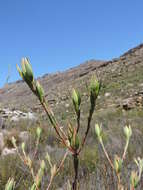
[[[80,110],[80,103],[81,103],[81,97],[78,91],[76,91],[75,89],[73,89],[72,91],[72,102],[74,105],[74,109],[76,111],[76,113],[79,113]]]

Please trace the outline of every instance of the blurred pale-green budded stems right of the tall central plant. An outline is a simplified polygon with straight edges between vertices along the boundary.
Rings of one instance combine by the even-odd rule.
[[[98,141],[101,144],[101,147],[103,149],[103,152],[105,154],[105,157],[107,158],[112,170],[115,172],[116,176],[117,176],[117,189],[118,190],[127,190],[128,188],[125,187],[122,182],[121,182],[121,171],[123,169],[123,162],[126,158],[126,154],[127,154],[127,150],[128,150],[128,146],[129,146],[129,141],[130,138],[132,136],[132,129],[130,126],[125,126],[124,127],[124,135],[125,135],[125,139],[126,139],[126,143],[124,146],[124,151],[123,154],[121,156],[119,155],[115,155],[114,156],[114,160],[112,161],[105,146],[103,143],[103,131],[102,131],[102,126],[96,124],[95,125],[95,133],[97,135]],[[135,163],[138,167],[137,171],[131,171],[131,176],[130,176],[130,190],[135,190],[135,188],[137,188],[140,180],[141,180],[141,174],[143,172],[143,159],[141,158],[137,158],[135,159]]]

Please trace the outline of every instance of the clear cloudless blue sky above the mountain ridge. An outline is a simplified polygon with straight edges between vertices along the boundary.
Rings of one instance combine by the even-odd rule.
[[[141,42],[143,0],[0,0],[0,86],[8,70],[9,82],[20,79],[21,57],[41,76]]]

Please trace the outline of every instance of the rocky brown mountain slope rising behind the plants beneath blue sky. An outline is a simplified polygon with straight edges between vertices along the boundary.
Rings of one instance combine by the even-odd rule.
[[[87,61],[75,68],[39,78],[47,100],[58,107],[69,98],[73,87],[83,88],[91,75],[102,80],[101,100],[103,105],[122,104],[124,99],[142,94],[143,86],[143,44],[129,50],[111,61]],[[104,97],[111,93],[108,98]],[[38,109],[39,102],[23,81],[17,81],[0,89],[2,107]],[[142,102],[141,102],[142,103]],[[111,105],[110,105],[111,106]],[[55,107],[55,106],[54,106]]]

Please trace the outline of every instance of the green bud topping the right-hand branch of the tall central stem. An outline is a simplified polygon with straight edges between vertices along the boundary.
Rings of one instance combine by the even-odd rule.
[[[93,76],[91,81],[90,81],[90,86],[89,86],[89,90],[90,90],[90,101],[91,104],[94,104],[98,94],[99,94],[99,90],[100,90],[100,83],[97,80],[96,76]]]

